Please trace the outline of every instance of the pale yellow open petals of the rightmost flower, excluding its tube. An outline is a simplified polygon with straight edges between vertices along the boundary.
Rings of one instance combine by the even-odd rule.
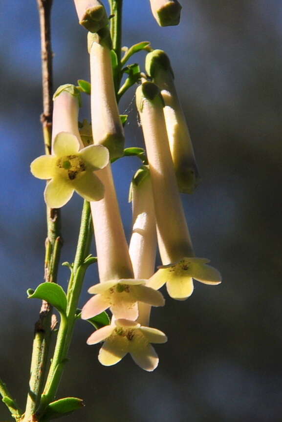
[[[158,267],[159,270],[150,278],[148,285],[159,289],[167,283],[168,294],[177,300],[185,300],[194,290],[193,278],[204,284],[220,284],[220,273],[210,265],[209,259],[183,258],[176,264]]]

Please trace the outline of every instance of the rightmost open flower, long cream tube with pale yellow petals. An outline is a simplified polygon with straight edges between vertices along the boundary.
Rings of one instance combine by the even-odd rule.
[[[169,288],[169,294],[176,299],[184,299],[192,294],[193,289],[191,287],[190,290],[186,287],[184,289],[183,284],[186,286],[187,283],[190,283],[191,286],[190,279],[193,278],[193,271],[197,270],[196,279],[198,279],[199,271],[198,266],[194,265],[192,269],[189,266],[189,276],[185,278],[182,273],[184,268],[181,267],[181,264],[181,271],[178,271],[177,265],[175,266],[185,259],[192,263],[191,259],[195,260],[196,258],[194,258],[190,233],[177,188],[164,120],[163,100],[158,87],[152,82],[145,82],[138,86],[136,104],[140,114],[152,177],[159,251],[165,265],[165,268],[158,270],[151,277],[147,285],[157,289],[169,280],[169,285],[174,285],[174,288]],[[221,277],[217,270],[209,266],[206,267],[202,268],[205,276],[201,276],[201,281],[210,282],[209,284],[220,283]],[[209,269],[212,269],[210,273]],[[184,278],[187,282],[183,281]]]

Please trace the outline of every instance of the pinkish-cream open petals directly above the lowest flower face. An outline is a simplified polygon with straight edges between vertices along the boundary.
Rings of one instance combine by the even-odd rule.
[[[138,317],[138,301],[151,306],[163,306],[163,295],[144,284],[144,280],[124,279],[106,281],[90,287],[88,292],[95,296],[84,305],[82,319],[92,318],[110,308],[115,318],[135,321]]]

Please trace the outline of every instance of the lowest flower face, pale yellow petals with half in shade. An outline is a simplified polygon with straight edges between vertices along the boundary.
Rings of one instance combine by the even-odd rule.
[[[150,343],[165,343],[166,335],[156,328],[143,327],[137,322],[117,319],[111,325],[95,331],[87,344],[105,341],[99,352],[99,362],[111,366],[130,353],[132,359],[145,371],[153,371],[159,362]]]

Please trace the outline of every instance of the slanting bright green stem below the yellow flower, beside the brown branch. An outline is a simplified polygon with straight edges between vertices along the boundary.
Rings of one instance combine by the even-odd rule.
[[[75,322],[75,312],[81,293],[84,276],[87,270],[85,258],[89,254],[91,243],[91,211],[89,202],[85,201],[81,217],[81,226],[78,244],[75,254],[74,265],[69,280],[67,298],[68,306],[66,315],[61,316],[61,324],[58,332],[52,364],[43,391],[42,401],[38,413],[42,413],[48,403],[54,400],[58,386],[64,371],[65,362],[71,342]]]

